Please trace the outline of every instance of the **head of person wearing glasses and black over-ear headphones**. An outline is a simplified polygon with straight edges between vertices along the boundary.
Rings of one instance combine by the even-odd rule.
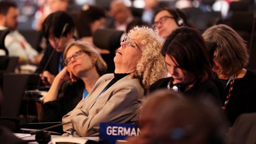
[[[180,9],[159,9],[155,12],[153,18],[154,27],[158,29],[158,34],[161,37],[171,35],[176,28],[186,26],[195,28],[188,20],[187,16]]]

